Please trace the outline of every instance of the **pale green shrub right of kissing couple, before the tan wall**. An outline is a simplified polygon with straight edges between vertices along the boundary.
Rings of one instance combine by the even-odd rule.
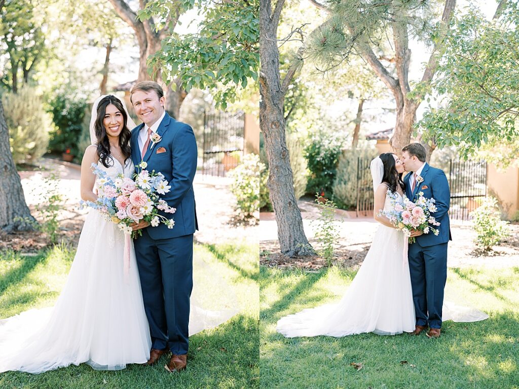
[[[472,216],[472,228],[477,233],[475,243],[484,251],[489,251],[492,246],[499,244],[510,235],[507,227],[508,221],[501,220],[497,199],[486,197],[481,206],[470,213]]]

